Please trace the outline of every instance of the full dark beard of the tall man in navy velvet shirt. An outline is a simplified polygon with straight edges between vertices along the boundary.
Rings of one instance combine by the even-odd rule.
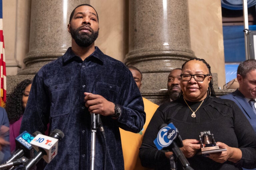
[[[79,34],[79,30],[85,26],[81,26],[78,29],[73,29],[71,26],[69,27],[71,37],[75,40],[75,42],[81,47],[90,46],[98,37],[99,31],[94,32],[90,26],[86,26],[91,29],[91,35],[88,33]]]

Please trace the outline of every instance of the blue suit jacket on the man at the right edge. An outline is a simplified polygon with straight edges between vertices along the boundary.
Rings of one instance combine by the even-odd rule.
[[[230,94],[221,96],[220,98],[233,100],[243,111],[244,115],[249,120],[254,131],[256,132],[256,115],[253,112],[250,104],[246,101],[244,95],[238,89]]]

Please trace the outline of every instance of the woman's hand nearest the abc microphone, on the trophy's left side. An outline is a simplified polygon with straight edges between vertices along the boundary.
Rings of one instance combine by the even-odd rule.
[[[183,152],[183,154],[187,158],[193,157],[198,151],[198,149],[201,148],[201,145],[198,144],[199,140],[196,140],[196,139],[185,139],[185,140],[182,140],[182,143],[184,146],[181,147],[180,150]]]

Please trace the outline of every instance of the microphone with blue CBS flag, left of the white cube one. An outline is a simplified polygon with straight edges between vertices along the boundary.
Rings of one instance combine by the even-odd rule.
[[[14,159],[21,158],[25,155],[27,158],[34,156],[34,149],[30,142],[34,139],[34,136],[42,134],[40,131],[34,132],[32,135],[26,130],[15,138],[16,148],[18,148],[12,156],[5,162],[10,163]]]

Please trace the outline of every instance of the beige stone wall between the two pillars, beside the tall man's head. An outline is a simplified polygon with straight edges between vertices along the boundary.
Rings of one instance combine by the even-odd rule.
[[[128,0],[91,0],[99,16],[99,37],[95,41],[105,54],[124,61],[128,53]]]

